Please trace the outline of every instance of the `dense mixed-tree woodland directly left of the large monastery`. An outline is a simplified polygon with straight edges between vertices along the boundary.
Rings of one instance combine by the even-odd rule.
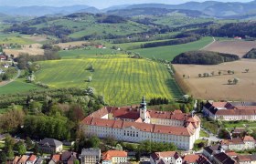
[[[1,108],[9,110],[0,115],[0,133],[19,133],[30,138],[74,139],[80,120],[104,105],[104,97],[96,95],[92,87],[1,96]],[[22,125],[24,128],[21,129]]]

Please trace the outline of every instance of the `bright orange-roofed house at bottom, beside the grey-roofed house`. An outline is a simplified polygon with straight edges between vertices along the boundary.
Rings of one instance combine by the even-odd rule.
[[[102,153],[102,164],[119,164],[127,162],[127,152],[121,150],[109,150]]]

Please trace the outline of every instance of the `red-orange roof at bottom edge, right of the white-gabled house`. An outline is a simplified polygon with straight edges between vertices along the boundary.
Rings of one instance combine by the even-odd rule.
[[[190,154],[183,157],[183,164],[211,164],[211,162],[203,155]]]

